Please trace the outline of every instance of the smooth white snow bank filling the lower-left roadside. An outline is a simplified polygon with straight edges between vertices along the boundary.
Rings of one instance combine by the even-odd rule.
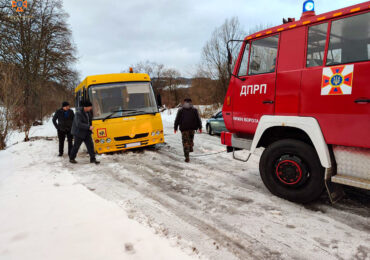
[[[190,259],[76,183],[65,158],[50,155],[56,147],[39,140],[0,152],[0,259]]]

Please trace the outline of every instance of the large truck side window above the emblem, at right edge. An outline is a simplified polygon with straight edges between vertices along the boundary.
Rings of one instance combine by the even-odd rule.
[[[327,65],[370,60],[370,13],[332,22]]]

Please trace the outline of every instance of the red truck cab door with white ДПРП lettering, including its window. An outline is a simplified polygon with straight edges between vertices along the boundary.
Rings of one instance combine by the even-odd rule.
[[[279,35],[246,44],[238,76],[233,79],[233,123],[238,132],[254,133],[262,115],[274,114]]]

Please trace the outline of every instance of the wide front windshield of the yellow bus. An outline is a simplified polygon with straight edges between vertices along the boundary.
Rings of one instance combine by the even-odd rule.
[[[94,119],[158,112],[154,93],[149,82],[91,86],[89,97],[93,104]],[[115,111],[117,113],[114,113]],[[114,114],[111,115],[112,113]]]

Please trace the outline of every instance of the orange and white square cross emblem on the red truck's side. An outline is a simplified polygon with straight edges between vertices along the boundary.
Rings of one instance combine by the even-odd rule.
[[[336,66],[323,69],[321,95],[351,95],[353,65]]]

